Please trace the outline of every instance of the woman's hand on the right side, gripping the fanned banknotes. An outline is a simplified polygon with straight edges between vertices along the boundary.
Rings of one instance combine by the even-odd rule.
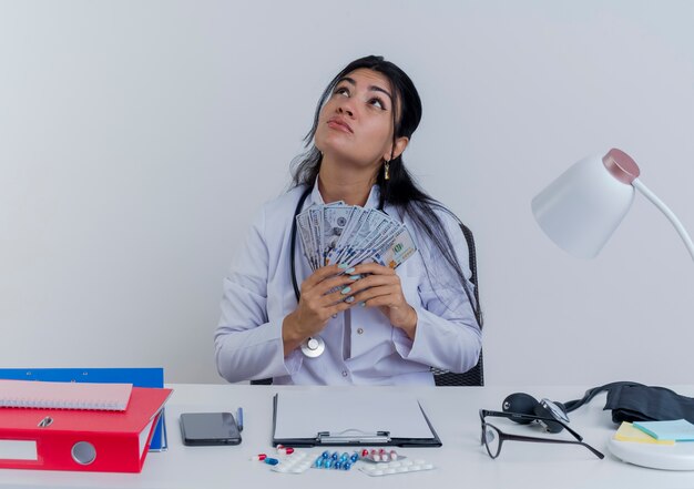
[[[349,295],[365,307],[378,307],[390,324],[402,329],[410,339],[417,330],[417,312],[405,299],[400,277],[395,269],[376,263],[357,265],[353,275],[366,275],[349,285]]]

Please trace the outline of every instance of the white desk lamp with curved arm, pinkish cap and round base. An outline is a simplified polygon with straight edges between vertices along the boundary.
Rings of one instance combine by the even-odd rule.
[[[600,253],[641,192],[675,226],[694,259],[694,244],[674,213],[639,180],[639,165],[623,151],[589,156],[573,164],[532,200],[542,231],[571,255],[593,258]],[[694,470],[694,444],[662,447],[609,441],[616,457],[642,467]]]

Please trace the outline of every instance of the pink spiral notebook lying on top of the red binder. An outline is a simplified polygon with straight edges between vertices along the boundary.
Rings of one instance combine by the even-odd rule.
[[[124,411],[132,384],[0,380],[0,407]]]

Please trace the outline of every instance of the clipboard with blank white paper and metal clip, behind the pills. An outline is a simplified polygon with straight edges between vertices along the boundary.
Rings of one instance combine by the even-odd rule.
[[[273,445],[442,446],[441,439],[415,396],[372,389],[275,394]]]

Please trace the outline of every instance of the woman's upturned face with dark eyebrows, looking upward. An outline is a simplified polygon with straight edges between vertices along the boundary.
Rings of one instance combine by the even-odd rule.
[[[368,69],[348,73],[320,110],[316,147],[363,167],[380,166],[390,160],[394,96],[384,74]]]

